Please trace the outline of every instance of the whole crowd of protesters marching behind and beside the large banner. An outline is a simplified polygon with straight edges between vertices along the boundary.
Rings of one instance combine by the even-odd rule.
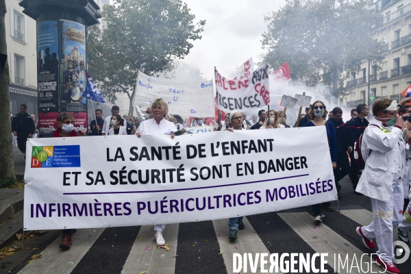
[[[341,186],[338,182],[349,175],[353,186],[353,195],[366,195],[371,198],[373,222],[364,227],[357,227],[357,234],[368,249],[375,249],[373,239],[378,245],[376,264],[386,268],[388,273],[400,273],[393,264],[393,227],[397,227],[399,239],[409,242],[408,232],[411,229],[411,205],[409,203],[410,166],[411,166],[411,105],[405,98],[397,104],[391,99],[378,99],[372,110],[367,105],[358,105],[351,110],[351,119],[343,121],[343,110],[327,110],[322,101],[314,101],[305,108],[306,114],[300,116],[295,125],[286,123],[286,113],[275,110],[258,110],[247,119],[247,114],[232,111],[219,116],[214,131],[227,131],[236,134],[238,130],[283,129],[289,127],[325,126],[329,153],[334,171],[338,199]],[[367,116],[373,114],[373,121]],[[145,135],[169,135],[171,138],[188,134],[184,127],[202,127],[204,118],[189,118],[183,121],[177,114],[169,114],[169,106],[164,99],[155,99],[145,110],[144,119],[119,115],[119,107],[112,107],[112,116],[103,117],[102,111],[95,110],[95,120],[91,121],[88,135],[132,135],[137,138]],[[222,120],[223,118],[223,120]],[[75,131],[74,117],[66,112],[58,116],[58,129],[47,137],[86,136],[83,130]],[[17,137],[18,147],[25,152],[23,138],[35,133],[34,121],[25,113],[13,119],[12,129]],[[275,132],[273,132],[275,136]],[[121,138],[121,137],[119,137]],[[315,140],[313,140],[315,144]],[[320,167],[321,168],[321,167]],[[321,225],[324,214],[321,210],[334,211],[330,202],[312,206],[315,225]],[[229,240],[238,238],[238,229],[245,229],[242,216],[229,218]],[[154,225],[157,245],[164,245],[162,232],[166,225]],[[76,229],[64,229],[60,248],[71,247],[71,234]]]

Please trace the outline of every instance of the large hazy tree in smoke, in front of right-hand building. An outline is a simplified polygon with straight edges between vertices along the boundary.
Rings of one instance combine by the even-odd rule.
[[[372,37],[379,14],[365,0],[287,0],[265,17],[264,55],[273,67],[288,61],[291,77],[323,82],[332,95],[346,95],[343,81],[364,60],[378,62],[382,42]],[[343,76],[343,71],[347,71]]]

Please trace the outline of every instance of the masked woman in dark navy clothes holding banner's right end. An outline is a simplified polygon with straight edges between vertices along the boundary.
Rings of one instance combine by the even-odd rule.
[[[321,126],[325,125],[325,129],[327,130],[327,138],[328,138],[328,145],[329,145],[329,153],[331,154],[332,160],[332,169],[336,169],[337,167],[337,141],[336,141],[336,130],[334,129],[334,125],[329,122],[325,121],[327,117],[327,109],[322,101],[315,101],[310,108],[310,112],[308,115],[311,118],[311,121],[306,123],[306,127],[314,127],[314,126]],[[334,211],[332,208],[331,203],[323,203],[322,207],[325,210]],[[312,206],[312,211],[315,216],[314,223],[319,225],[323,222],[323,214],[321,213],[321,203],[317,203],[316,205]]]

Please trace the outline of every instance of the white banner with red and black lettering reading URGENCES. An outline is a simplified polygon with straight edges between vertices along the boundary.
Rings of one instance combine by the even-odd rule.
[[[263,64],[247,79],[229,80],[216,70],[216,98],[219,110],[254,110],[270,103],[269,65]]]

